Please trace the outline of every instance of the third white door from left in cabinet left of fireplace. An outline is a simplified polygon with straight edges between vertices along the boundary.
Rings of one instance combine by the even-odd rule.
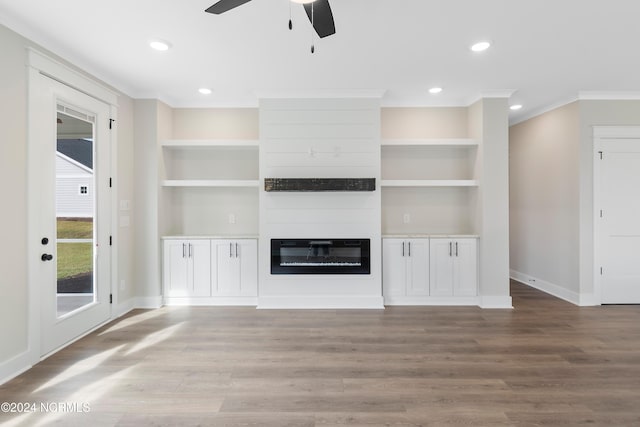
[[[240,258],[233,240],[212,240],[211,261],[214,264],[211,291],[217,296],[240,294]]]

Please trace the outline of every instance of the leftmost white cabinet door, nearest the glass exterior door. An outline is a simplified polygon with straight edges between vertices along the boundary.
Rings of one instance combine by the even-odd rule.
[[[163,282],[166,297],[184,297],[190,294],[187,242],[165,240],[163,253]]]

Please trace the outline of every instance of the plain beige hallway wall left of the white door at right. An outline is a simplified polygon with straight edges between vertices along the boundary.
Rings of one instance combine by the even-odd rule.
[[[580,292],[578,120],[574,102],[512,126],[509,134],[512,276],[574,301]]]

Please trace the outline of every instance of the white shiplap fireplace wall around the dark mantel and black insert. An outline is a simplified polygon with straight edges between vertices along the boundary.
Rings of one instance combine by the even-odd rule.
[[[260,101],[259,307],[382,307],[379,99]],[[267,193],[264,178],[376,178],[374,192]],[[370,239],[371,274],[270,274],[278,238]]]

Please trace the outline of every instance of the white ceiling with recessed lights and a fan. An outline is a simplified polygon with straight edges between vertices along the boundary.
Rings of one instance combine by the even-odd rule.
[[[580,92],[640,93],[637,0],[331,0],[316,40],[302,6],[253,0],[0,0],[0,23],[134,98],[256,106],[256,93],[381,90],[385,106],[468,105],[514,91],[512,122]],[[173,47],[151,50],[153,38]],[[469,46],[489,39],[485,53]],[[210,87],[203,96],[199,87]],[[427,89],[444,91],[430,95]]]

